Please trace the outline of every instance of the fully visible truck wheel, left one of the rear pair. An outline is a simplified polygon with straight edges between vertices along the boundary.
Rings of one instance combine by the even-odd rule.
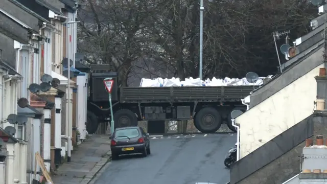
[[[204,107],[196,114],[194,125],[203,133],[214,133],[221,126],[221,116],[215,108]]]

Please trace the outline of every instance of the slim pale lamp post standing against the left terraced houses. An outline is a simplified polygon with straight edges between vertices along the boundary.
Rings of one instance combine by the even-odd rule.
[[[68,100],[68,107],[67,107],[67,114],[66,114],[66,121],[69,125],[69,104],[71,103],[71,56],[70,56],[70,51],[71,51],[71,39],[70,39],[70,34],[69,34],[69,30],[68,30],[68,26],[70,24],[75,24],[78,23],[80,21],[68,21],[68,22],[64,22],[64,25],[66,25],[66,32],[67,32],[67,42],[68,42],[68,50],[67,50],[67,67],[68,67],[68,94],[67,94],[67,100]],[[71,128],[70,126],[66,127],[68,128],[68,141],[67,141],[67,162],[71,162],[71,150],[72,150],[72,136],[69,133],[69,128]],[[73,128],[73,127],[72,127]]]

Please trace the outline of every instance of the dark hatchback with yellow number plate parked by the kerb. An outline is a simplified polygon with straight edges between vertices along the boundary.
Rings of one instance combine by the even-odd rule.
[[[116,128],[110,142],[111,157],[119,159],[122,154],[151,154],[149,133],[137,126]]]

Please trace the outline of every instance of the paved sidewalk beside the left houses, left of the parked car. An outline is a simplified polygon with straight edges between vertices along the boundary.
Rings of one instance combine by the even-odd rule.
[[[64,163],[51,176],[54,184],[87,184],[110,161],[109,135],[88,135],[74,148],[70,163]]]

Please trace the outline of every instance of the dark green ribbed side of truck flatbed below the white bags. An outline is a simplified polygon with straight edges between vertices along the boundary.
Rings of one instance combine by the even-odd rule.
[[[121,87],[120,103],[235,102],[253,86]]]

